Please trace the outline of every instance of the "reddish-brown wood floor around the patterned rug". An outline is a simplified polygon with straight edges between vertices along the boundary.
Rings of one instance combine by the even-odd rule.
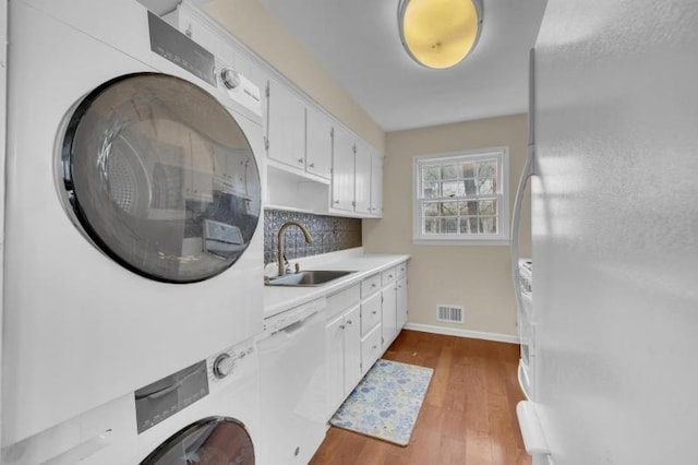
[[[311,465],[530,465],[515,410],[518,346],[405,330],[383,358],[434,369],[410,443],[332,427]]]

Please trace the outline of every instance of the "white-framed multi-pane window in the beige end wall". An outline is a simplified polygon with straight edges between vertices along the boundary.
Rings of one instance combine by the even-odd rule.
[[[414,243],[507,245],[506,147],[414,158]]]

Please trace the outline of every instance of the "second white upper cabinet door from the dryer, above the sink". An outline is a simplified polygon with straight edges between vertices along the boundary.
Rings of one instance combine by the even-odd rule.
[[[305,170],[329,179],[333,121],[317,108],[308,107],[305,118]]]

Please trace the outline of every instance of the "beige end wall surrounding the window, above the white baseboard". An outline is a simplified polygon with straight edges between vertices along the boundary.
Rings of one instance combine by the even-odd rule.
[[[386,134],[384,217],[363,220],[363,246],[368,252],[411,255],[410,323],[516,334],[509,247],[412,245],[412,157],[508,146],[512,208],[527,155],[527,128],[526,115],[515,115]],[[528,202],[521,231],[521,255],[530,257]],[[437,305],[465,307],[465,325],[437,322]]]

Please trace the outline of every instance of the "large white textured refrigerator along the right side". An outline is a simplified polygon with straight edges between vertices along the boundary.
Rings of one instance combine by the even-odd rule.
[[[535,44],[534,464],[697,462],[698,3],[549,0]]]

